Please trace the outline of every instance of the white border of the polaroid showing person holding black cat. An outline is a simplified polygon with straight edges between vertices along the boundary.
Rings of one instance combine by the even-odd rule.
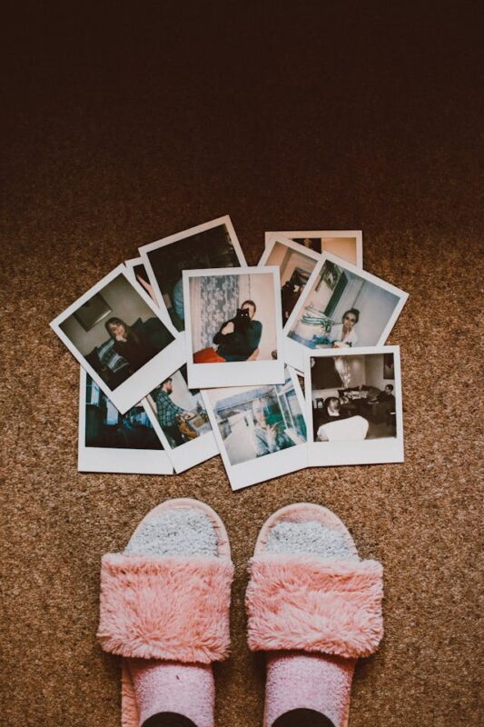
[[[227,362],[225,364],[193,364],[192,315],[190,280],[195,277],[215,275],[272,274],[275,314],[277,359],[272,361]],[[282,336],[281,275],[277,265],[264,267],[217,267],[206,270],[183,270],[183,299],[185,304],[185,344],[188,384],[191,389],[212,389],[226,386],[251,386],[252,384],[284,383],[284,355]]]

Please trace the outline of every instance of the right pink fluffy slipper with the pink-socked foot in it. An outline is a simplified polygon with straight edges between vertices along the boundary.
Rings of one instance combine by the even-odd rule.
[[[382,567],[321,505],[283,507],[262,526],[246,593],[249,647],[267,652],[264,727],[346,727],[359,657],[383,635]]]

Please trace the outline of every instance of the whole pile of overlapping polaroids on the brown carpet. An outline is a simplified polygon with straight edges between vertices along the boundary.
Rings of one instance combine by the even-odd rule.
[[[384,343],[408,294],[362,262],[361,231],[286,231],[247,266],[229,216],[140,247],[51,323],[81,364],[79,470],[220,454],[237,490],[402,462],[400,349]]]

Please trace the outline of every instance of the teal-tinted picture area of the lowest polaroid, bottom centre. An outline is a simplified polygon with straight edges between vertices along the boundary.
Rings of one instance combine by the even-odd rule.
[[[283,384],[230,391],[230,396],[213,402],[213,411],[232,465],[306,442],[306,423],[291,376]],[[273,433],[269,447],[263,444],[268,429]]]

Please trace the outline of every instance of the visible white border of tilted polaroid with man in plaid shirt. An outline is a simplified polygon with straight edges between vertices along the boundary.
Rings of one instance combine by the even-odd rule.
[[[178,371],[178,369],[176,369],[176,371]],[[169,375],[173,375],[176,371],[173,371]],[[150,422],[153,424],[154,431],[158,434],[158,437],[163,444],[164,452],[173,464],[173,469],[177,474],[185,472],[186,470],[194,467],[196,464],[206,462],[219,454],[219,448],[215,441],[215,437],[213,436],[213,431],[205,432],[202,436],[192,439],[190,442],[180,444],[178,447],[172,447],[163,432],[161,424],[158,422],[158,417],[156,416],[155,411],[156,404],[153,401],[151,393],[143,399],[143,406],[148,414]]]

